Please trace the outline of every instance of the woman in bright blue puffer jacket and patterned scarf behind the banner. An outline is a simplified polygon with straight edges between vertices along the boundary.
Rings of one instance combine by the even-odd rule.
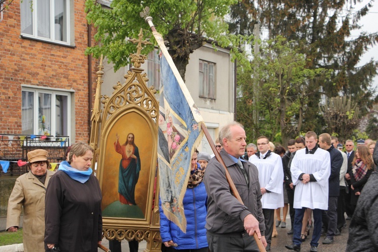
[[[196,151],[192,155],[191,175],[182,201],[187,223],[186,233],[165,217],[159,200],[160,235],[164,245],[168,247],[165,251],[207,252],[208,250],[205,229],[207,194],[205,184],[202,182],[204,171],[205,169],[197,163]],[[168,243],[176,243],[177,246],[173,247]]]

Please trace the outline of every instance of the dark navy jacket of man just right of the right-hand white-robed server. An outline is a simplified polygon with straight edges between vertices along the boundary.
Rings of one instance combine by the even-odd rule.
[[[330,153],[331,157],[331,175],[328,178],[328,195],[330,197],[337,197],[340,194],[340,168],[344,159],[340,151],[336,150],[333,145],[331,145],[331,148],[327,151]]]

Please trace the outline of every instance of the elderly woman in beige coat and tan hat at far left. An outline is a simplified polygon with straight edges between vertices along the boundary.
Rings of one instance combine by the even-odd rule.
[[[24,208],[24,251],[44,251],[45,192],[53,171],[47,170],[47,151],[28,152],[29,172],[16,179],[8,201],[7,230],[17,232],[22,207]]]

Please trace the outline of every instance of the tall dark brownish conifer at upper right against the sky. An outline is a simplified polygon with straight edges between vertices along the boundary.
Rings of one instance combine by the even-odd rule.
[[[351,31],[361,27],[358,21],[367,14],[372,1],[362,9],[354,11],[357,1],[347,0],[260,0],[249,4],[242,0],[231,8],[230,30],[233,33],[251,32],[256,22],[268,30],[269,38],[283,36],[297,42],[297,52],[305,55],[306,69],[333,70],[329,77],[308,81],[307,112],[303,114],[303,130],[322,131],[323,118],[319,115],[322,95],[334,97],[339,94],[350,96],[360,107],[360,114],[366,112],[378,97],[371,90],[371,83],[377,74],[377,62],[370,61],[356,67],[362,54],[378,41],[377,33],[360,33],[350,39]],[[239,18],[241,17],[241,18]],[[248,18],[249,22],[245,22]]]

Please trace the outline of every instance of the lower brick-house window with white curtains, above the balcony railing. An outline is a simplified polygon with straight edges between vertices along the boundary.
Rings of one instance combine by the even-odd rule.
[[[22,89],[22,134],[70,136],[71,93],[49,89]]]

